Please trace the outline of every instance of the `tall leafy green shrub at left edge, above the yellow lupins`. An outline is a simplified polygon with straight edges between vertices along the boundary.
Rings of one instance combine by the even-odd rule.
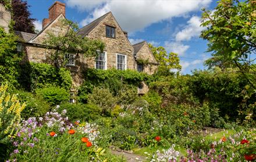
[[[18,65],[22,53],[16,51],[16,37],[0,27],[0,83],[9,82],[17,86]]]

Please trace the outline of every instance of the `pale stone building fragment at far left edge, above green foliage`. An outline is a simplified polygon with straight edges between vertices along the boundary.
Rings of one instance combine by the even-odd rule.
[[[3,27],[5,32],[9,32],[10,19],[10,13],[0,4],[0,27]]]

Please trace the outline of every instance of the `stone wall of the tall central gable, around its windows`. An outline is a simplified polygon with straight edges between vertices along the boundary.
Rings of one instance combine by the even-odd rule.
[[[106,25],[115,27],[116,38],[106,37]],[[89,34],[88,38],[91,39],[100,39],[105,42],[105,50],[107,56],[107,69],[116,68],[116,54],[124,54],[127,59],[127,69],[134,69],[135,58],[133,56],[134,50],[130,42],[126,38],[126,35],[123,33],[122,29],[119,27],[112,13],[109,13],[104,20],[102,20],[97,27],[95,27]],[[94,59],[87,60],[88,67],[94,68],[95,61]]]

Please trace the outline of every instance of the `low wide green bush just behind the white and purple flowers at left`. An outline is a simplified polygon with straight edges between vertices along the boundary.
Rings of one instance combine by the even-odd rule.
[[[66,115],[69,117],[70,121],[92,121],[101,117],[102,110],[97,105],[94,104],[62,104],[60,105],[58,112],[66,109]]]

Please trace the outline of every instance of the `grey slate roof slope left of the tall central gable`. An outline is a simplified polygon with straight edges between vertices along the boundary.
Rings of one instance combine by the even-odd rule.
[[[103,16],[101,16],[98,19],[94,20],[90,24],[84,26],[83,28],[80,28],[77,31],[77,34],[78,35],[82,35],[83,37],[88,35],[89,32],[91,32],[99,24],[99,22],[101,22],[101,20],[103,20],[109,13],[111,13],[111,12],[108,12],[108,13],[104,14]]]

